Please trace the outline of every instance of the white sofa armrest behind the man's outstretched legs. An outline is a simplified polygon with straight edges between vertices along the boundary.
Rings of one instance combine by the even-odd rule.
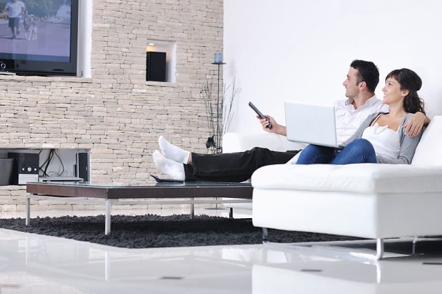
[[[222,152],[233,153],[250,150],[253,147],[269,148],[274,151],[299,150],[305,144],[287,140],[287,137],[275,133],[226,133],[222,136]]]

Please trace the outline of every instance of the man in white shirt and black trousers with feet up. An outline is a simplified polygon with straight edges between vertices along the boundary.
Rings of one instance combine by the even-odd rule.
[[[338,143],[352,136],[364,119],[374,113],[388,112],[388,106],[374,95],[379,82],[379,71],[371,61],[354,60],[350,65],[345,86],[344,101],[336,102],[336,134]],[[287,135],[287,128],[278,124],[273,117],[260,119],[262,128],[269,133]],[[258,117],[259,118],[259,117]],[[429,123],[423,113],[417,112],[405,125],[407,135],[417,135],[425,123]],[[271,129],[266,128],[271,124]],[[298,151],[278,152],[267,148],[253,148],[240,153],[198,154],[182,150],[160,137],[160,151],[155,150],[155,166],[171,179],[180,181],[243,182],[261,166],[285,164]]]

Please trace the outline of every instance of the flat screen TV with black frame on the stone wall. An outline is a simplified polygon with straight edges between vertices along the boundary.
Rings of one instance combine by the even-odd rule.
[[[0,71],[77,75],[78,10],[79,0],[0,0]]]

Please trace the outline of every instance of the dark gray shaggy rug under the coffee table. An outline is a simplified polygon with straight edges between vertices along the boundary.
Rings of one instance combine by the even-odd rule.
[[[251,219],[197,215],[113,215],[111,234],[104,235],[104,215],[96,217],[37,217],[0,219],[0,228],[76,239],[126,248],[260,244],[261,228]],[[354,237],[269,230],[271,242],[319,242],[351,240]]]

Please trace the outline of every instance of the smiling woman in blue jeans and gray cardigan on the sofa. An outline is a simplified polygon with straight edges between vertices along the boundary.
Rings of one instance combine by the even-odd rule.
[[[402,68],[385,78],[383,103],[390,112],[370,115],[342,149],[309,145],[296,164],[410,164],[422,136],[405,134],[403,125],[415,112],[423,112],[417,91],[422,81],[416,72]]]

